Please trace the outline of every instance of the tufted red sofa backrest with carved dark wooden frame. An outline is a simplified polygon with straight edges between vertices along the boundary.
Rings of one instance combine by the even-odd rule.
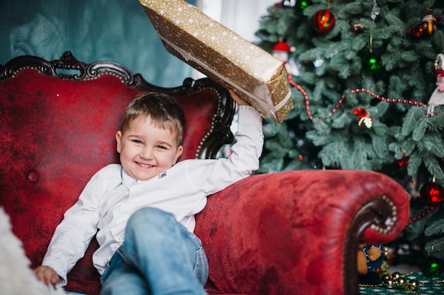
[[[31,267],[40,265],[55,227],[91,175],[118,163],[115,134],[135,94],[168,93],[182,105],[187,126],[179,161],[214,158],[233,140],[233,100],[209,79],[161,88],[121,64],[85,64],[65,52],[51,62],[23,56],[0,65],[0,89],[0,207]],[[67,290],[98,291],[91,265],[96,247],[94,240],[70,272]]]

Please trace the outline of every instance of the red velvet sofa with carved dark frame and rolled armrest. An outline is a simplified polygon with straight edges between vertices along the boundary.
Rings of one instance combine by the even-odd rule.
[[[160,88],[121,64],[22,56],[0,65],[0,207],[31,267],[85,183],[117,162],[114,134],[141,91],[177,97],[187,115],[184,158],[213,158],[233,140],[234,103],[209,79]],[[358,243],[387,243],[404,229],[409,195],[358,170],[252,175],[209,197],[196,234],[209,258],[209,294],[359,294]],[[95,240],[65,289],[99,294]]]

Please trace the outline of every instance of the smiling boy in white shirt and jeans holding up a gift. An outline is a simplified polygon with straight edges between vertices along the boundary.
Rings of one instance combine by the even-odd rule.
[[[179,163],[181,108],[164,94],[137,96],[116,133],[121,164],[89,180],[57,226],[37,278],[64,286],[97,233],[93,263],[102,294],[206,294],[208,262],[193,233],[194,214],[204,209],[206,196],[258,168],[263,144],[260,113],[230,93],[239,105],[231,156]]]

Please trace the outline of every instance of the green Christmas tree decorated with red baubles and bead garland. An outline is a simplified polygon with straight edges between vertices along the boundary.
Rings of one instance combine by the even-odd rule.
[[[265,120],[259,172],[385,173],[412,197],[404,238],[440,259],[444,86],[434,91],[444,76],[443,7],[418,0],[285,0],[268,8],[256,32],[260,47],[288,57],[294,102],[282,125]]]

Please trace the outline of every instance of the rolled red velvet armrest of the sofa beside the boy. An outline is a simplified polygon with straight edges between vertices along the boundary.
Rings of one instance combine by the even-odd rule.
[[[252,175],[209,197],[196,234],[218,291],[358,294],[356,251],[346,249],[360,238],[387,243],[408,218],[409,195],[386,175],[298,170]]]

